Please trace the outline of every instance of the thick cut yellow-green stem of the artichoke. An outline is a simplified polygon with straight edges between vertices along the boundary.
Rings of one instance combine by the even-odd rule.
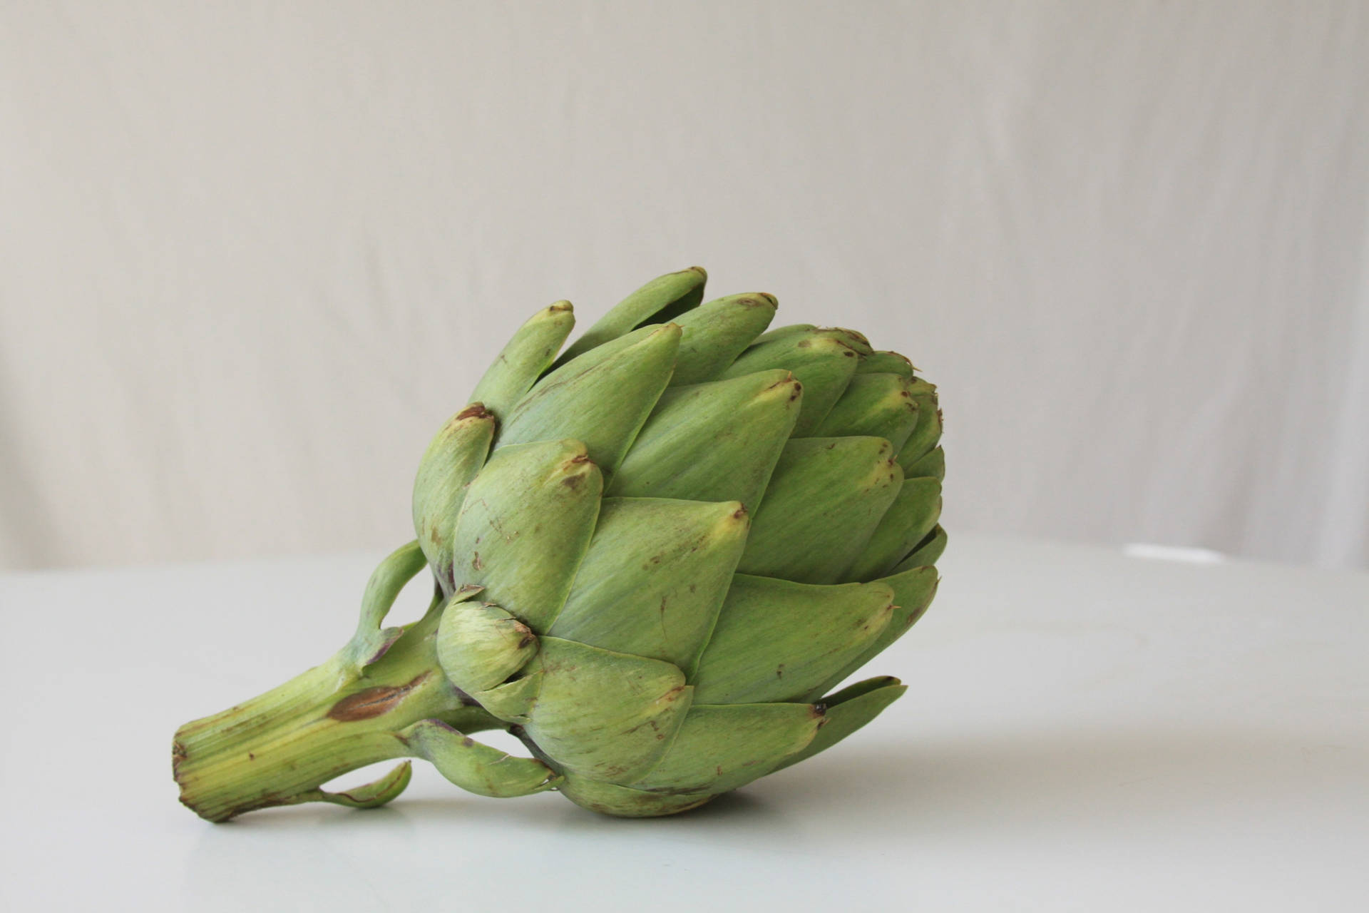
[[[437,665],[428,619],[375,665],[342,650],[266,694],[182,725],[172,743],[181,802],[209,821],[320,798],[356,768],[413,753],[405,725],[438,719],[459,730],[497,724]],[[435,619],[433,620],[435,623]]]

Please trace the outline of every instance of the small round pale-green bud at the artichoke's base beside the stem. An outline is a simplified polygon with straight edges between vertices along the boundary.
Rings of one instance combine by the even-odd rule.
[[[537,653],[530,627],[493,602],[453,602],[437,628],[437,660],[467,694],[493,689]]]

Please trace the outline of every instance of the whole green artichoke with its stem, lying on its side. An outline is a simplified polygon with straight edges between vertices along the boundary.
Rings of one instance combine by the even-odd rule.
[[[554,788],[671,814],[830,747],[905,690],[828,691],[925,612],[946,543],[936,391],[852,330],[767,331],[776,301],[654,279],[557,357],[535,313],[437,434],[412,542],[356,635],[261,697],[182,727],[181,799],[381,805],[424,758],[491,797]],[[427,613],[383,627],[424,567]],[[516,735],[530,757],[471,738]]]

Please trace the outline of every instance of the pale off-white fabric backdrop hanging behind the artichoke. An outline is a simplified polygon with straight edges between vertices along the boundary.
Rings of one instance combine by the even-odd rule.
[[[0,567],[385,548],[658,272],[941,385],[945,523],[1369,564],[1364,3],[0,4]]]

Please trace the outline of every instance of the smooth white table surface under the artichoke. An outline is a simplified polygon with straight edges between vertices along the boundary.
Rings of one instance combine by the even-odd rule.
[[[712,808],[416,762],[385,809],[194,817],[175,727],[333,653],[379,557],[0,578],[8,909],[1369,909],[1369,575],[969,535],[868,669],[904,699]]]

